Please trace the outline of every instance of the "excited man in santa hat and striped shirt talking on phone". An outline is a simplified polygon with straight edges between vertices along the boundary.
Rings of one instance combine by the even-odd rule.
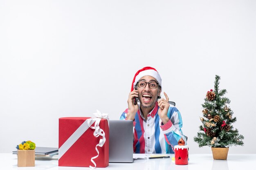
[[[133,150],[135,153],[174,153],[182,133],[179,110],[160,97],[162,79],[155,68],[137,71],[128,97],[128,108],[120,119],[133,120]],[[137,101],[139,104],[136,104]]]

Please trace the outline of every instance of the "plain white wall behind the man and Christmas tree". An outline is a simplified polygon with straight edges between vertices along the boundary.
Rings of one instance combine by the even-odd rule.
[[[1,0],[0,152],[58,147],[59,117],[119,119],[134,74],[152,66],[190,153],[211,153],[193,137],[216,74],[245,137],[229,153],[256,153],[255,55],[254,0]]]

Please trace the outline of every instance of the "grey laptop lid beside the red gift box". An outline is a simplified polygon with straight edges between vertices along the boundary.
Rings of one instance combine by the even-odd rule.
[[[109,121],[109,162],[133,162],[132,120]]]

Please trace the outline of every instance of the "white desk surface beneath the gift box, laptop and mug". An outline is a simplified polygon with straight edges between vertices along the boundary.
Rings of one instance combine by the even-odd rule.
[[[173,154],[170,154],[174,157]],[[134,156],[136,157],[136,155]],[[256,154],[229,154],[227,160],[214,160],[211,154],[190,154],[189,165],[175,165],[171,158],[110,163],[97,170],[245,170],[254,169]],[[36,160],[35,167],[17,167],[17,155],[0,153],[0,170],[89,170],[87,167],[62,167],[57,160]]]

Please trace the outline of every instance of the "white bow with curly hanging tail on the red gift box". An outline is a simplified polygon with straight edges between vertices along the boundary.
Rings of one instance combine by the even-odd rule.
[[[91,161],[94,164],[94,167],[90,166],[90,168],[96,168],[96,163],[94,162],[93,159],[95,159],[99,156],[99,150],[98,150],[97,146],[102,147],[104,145],[105,141],[106,141],[105,132],[99,127],[99,123],[100,123],[101,119],[107,119],[108,120],[108,114],[101,113],[99,110],[97,110],[97,113],[93,113],[93,115],[95,117],[92,117],[92,118],[88,119],[88,126],[92,129],[95,129],[94,132],[93,132],[93,135],[95,137],[102,136],[102,139],[100,139],[99,144],[97,144],[95,146],[95,150],[97,152],[97,155],[95,157],[91,158]],[[95,121],[94,126],[91,126],[92,125],[90,123],[91,121]]]

